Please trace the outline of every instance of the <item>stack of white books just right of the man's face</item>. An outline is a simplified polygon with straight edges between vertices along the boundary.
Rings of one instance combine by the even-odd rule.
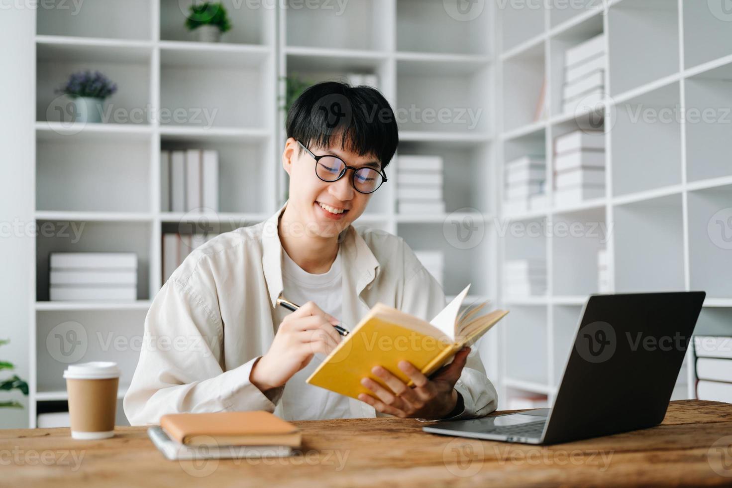
[[[442,158],[400,155],[397,158],[397,204],[400,213],[444,213]]]

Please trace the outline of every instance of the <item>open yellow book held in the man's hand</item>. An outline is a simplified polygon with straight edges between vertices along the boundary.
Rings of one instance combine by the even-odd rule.
[[[496,310],[477,315],[488,301],[460,312],[469,288],[466,286],[430,322],[377,303],[307,382],[357,399],[359,393],[369,393],[361,385],[362,378],[370,377],[384,385],[371,372],[374,366],[383,366],[409,385],[411,380],[397,367],[399,361],[409,361],[429,376],[508,313]]]

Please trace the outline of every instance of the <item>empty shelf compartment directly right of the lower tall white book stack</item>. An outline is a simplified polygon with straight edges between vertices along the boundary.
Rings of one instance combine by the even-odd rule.
[[[610,132],[614,196],[681,183],[679,84],[663,86],[621,106]]]

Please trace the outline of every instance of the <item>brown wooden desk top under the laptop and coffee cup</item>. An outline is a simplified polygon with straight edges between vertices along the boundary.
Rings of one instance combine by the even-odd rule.
[[[732,484],[732,404],[672,402],[652,429],[548,447],[430,435],[398,418],[296,424],[298,456],[201,462],[164,459],[145,427],[117,427],[108,440],[0,430],[0,486]]]

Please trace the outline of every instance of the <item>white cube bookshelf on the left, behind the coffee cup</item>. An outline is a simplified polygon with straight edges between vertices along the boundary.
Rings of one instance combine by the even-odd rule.
[[[192,2],[189,2],[192,3]],[[234,29],[222,42],[195,42],[184,28],[186,2],[113,0],[72,10],[38,9],[36,22],[35,219],[83,225],[81,238],[58,232],[35,239],[31,302],[29,424],[66,399],[61,372],[46,341],[59,324],[86,332],[83,361],[122,368],[121,399],[138,360],[145,315],[161,286],[161,235],[195,225],[196,216],[161,212],[160,150],[215,148],[220,154],[222,231],[263,220],[277,208],[277,12],[224,1]],[[142,21],[141,21],[142,20]],[[53,89],[75,70],[100,70],[119,86],[106,106],[142,119],[114,117],[70,125],[55,109]],[[165,118],[184,109],[185,116]],[[208,110],[212,119],[196,117]],[[160,117],[147,117],[148,114]],[[41,227],[42,229],[42,227]],[[133,302],[48,301],[52,251],[127,251],[138,256]],[[53,349],[53,348],[51,348]],[[63,360],[63,358],[61,358]],[[51,407],[49,407],[51,406]],[[62,408],[62,407],[61,407]],[[124,415],[118,416],[124,421]]]

